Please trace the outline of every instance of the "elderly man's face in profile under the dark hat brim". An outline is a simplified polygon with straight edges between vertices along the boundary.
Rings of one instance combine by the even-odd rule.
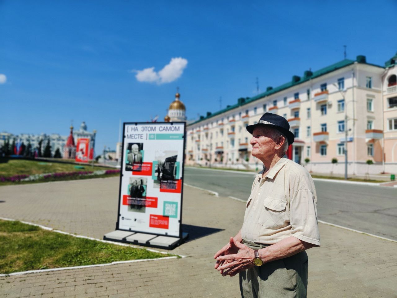
[[[252,145],[252,156],[262,160],[273,157],[276,153],[276,142],[271,138],[272,131],[266,127],[256,127],[252,132],[250,144]]]

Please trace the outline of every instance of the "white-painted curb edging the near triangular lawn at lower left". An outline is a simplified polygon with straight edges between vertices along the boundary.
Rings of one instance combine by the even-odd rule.
[[[10,218],[6,218],[6,217],[0,217],[0,219],[2,219],[4,221],[18,221],[16,219],[10,219]],[[52,232],[73,236],[73,237],[76,237],[76,238],[84,238],[84,239],[94,240],[94,241],[103,242],[103,243],[110,243],[110,244],[119,245],[119,246],[129,246],[129,247],[133,247],[133,248],[139,248],[139,249],[142,249],[142,250],[148,250],[150,252],[157,252],[157,253],[162,253],[162,254],[167,254],[168,253],[168,252],[160,252],[159,250],[153,250],[153,249],[150,249],[150,248],[143,248],[143,247],[140,247],[140,246],[135,246],[135,245],[127,244],[127,243],[113,242],[113,241],[101,240],[101,239],[96,239],[96,238],[87,237],[87,236],[70,234],[68,232],[64,232],[64,231],[60,231],[60,230],[54,230],[53,228],[50,228],[48,226],[42,226],[41,224],[29,223],[27,221],[19,221],[19,222],[24,223],[24,224],[30,224],[32,226],[38,226],[38,227],[40,227],[40,228],[42,228],[44,230],[49,230],[49,231],[52,231]],[[162,259],[175,259],[178,256],[182,257],[182,258],[186,257],[185,255],[176,255],[174,257],[160,257],[160,258],[156,258],[156,259],[140,259],[140,260],[129,260],[129,261],[115,261],[115,262],[112,262],[112,263],[105,263],[105,264],[94,264],[94,265],[85,265],[85,266],[74,266],[74,267],[62,267],[62,268],[29,270],[29,271],[22,271],[22,272],[13,272],[13,273],[9,273],[9,274],[0,274],[0,277],[10,276],[10,275],[27,274],[27,273],[40,273],[40,272],[46,272],[46,271],[80,269],[80,268],[89,268],[89,267],[101,267],[101,266],[109,266],[109,265],[123,264],[123,263],[135,263],[135,262],[142,262],[142,261],[157,261],[157,260],[162,260]]]

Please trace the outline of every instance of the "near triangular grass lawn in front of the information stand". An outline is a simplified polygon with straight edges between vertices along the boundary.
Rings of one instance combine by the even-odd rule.
[[[0,273],[72,267],[172,254],[119,246],[0,220]]]

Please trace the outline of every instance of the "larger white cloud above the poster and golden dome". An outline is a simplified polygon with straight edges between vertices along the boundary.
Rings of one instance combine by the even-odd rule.
[[[145,68],[143,70],[135,70],[137,74],[135,77],[139,82],[157,83],[158,85],[164,83],[171,83],[178,79],[183,70],[187,66],[187,60],[181,57],[171,58],[170,63],[163,67],[159,72],[154,71],[154,67]]]

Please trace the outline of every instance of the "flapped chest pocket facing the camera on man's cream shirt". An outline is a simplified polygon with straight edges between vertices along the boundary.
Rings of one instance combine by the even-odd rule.
[[[277,230],[284,224],[287,201],[279,198],[266,197],[263,201],[259,224]]]

